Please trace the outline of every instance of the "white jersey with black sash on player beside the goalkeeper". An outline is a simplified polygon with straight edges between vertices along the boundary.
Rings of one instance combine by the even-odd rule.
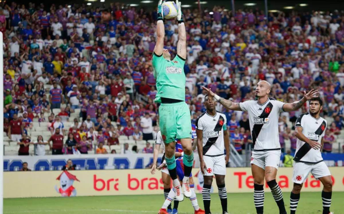
[[[196,130],[203,130],[203,155],[220,156],[224,154],[224,132],[227,131],[227,119],[224,113],[216,111],[215,116],[207,112],[196,120]]]

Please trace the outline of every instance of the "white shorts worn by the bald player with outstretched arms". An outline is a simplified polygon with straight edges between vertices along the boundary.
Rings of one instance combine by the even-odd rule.
[[[251,164],[265,170],[265,167],[278,169],[281,159],[281,150],[252,151]]]

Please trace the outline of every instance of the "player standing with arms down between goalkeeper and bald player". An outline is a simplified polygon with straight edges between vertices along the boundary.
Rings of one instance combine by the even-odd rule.
[[[227,190],[225,186],[226,164],[229,160],[229,137],[225,114],[216,111],[214,97],[204,98],[206,112],[196,120],[197,150],[204,178],[202,196],[206,214],[210,212],[210,190],[215,175],[222,213],[227,212]],[[226,155],[224,150],[226,148]]]

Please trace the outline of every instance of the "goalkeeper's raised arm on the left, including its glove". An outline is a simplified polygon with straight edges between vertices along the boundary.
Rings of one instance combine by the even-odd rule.
[[[162,55],[164,48],[165,26],[163,22],[162,0],[158,4],[158,22],[157,22],[157,43],[155,43],[154,53],[158,56]]]

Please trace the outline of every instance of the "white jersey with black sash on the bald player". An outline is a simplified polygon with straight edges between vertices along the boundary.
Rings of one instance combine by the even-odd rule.
[[[279,143],[278,117],[285,103],[268,98],[260,104],[258,100],[247,100],[239,103],[241,111],[248,112],[254,151],[278,150]]]

